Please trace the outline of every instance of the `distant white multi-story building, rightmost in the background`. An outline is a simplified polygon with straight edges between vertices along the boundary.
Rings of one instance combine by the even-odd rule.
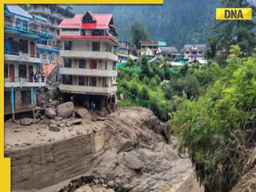
[[[204,59],[205,49],[205,44],[184,45],[183,49],[181,49],[181,55],[185,59],[199,61],[201,59]]]

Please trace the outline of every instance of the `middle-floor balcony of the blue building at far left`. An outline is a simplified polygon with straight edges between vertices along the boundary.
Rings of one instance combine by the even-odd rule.
[[[49,64],[49,59],[47,59],[47,57],[43,57],[41,54],[31,56],[29,53],[21,53],[21,51],[11,52],[5,50],[5,61],[23,61],[29,63]]]

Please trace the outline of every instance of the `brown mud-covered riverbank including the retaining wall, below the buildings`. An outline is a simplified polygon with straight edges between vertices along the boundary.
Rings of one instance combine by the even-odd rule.
[[[93,175],[113,182],[114,191],[160,192],[168,183],[178,189],[191,175],[191,162],[178,155],[177,139],[171,136],[167,143],[164,123],[149,109],[119,109],[99,121],[87,117],[59,132],[45,129],[42,121],[37,127],[6,123],[13,191],[59,191],[79,175]]]

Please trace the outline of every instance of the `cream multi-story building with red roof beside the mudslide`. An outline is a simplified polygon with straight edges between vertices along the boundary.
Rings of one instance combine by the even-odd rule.
[[[113,15],[87,11],[63,19],[59,30],[63,41],[59,91],[63,99],[73,97],[75,104],[87,107],[94,102],[98,109],[104,109],[107,97],[117,91],[117,55],[113,46],[118,41]]]

